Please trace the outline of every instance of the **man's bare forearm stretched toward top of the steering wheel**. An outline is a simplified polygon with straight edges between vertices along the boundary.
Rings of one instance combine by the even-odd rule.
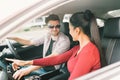
[[[28,45],[28,46],[33,45],[30,40],[22,39],[19,37],[8,37],[8,39],[15,40],[22,45]]]

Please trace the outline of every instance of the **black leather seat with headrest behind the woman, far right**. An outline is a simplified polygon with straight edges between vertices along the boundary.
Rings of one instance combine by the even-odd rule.
[[[106,21],[102,48],[108,65],[120,61],[120,18],[110,18]]]

